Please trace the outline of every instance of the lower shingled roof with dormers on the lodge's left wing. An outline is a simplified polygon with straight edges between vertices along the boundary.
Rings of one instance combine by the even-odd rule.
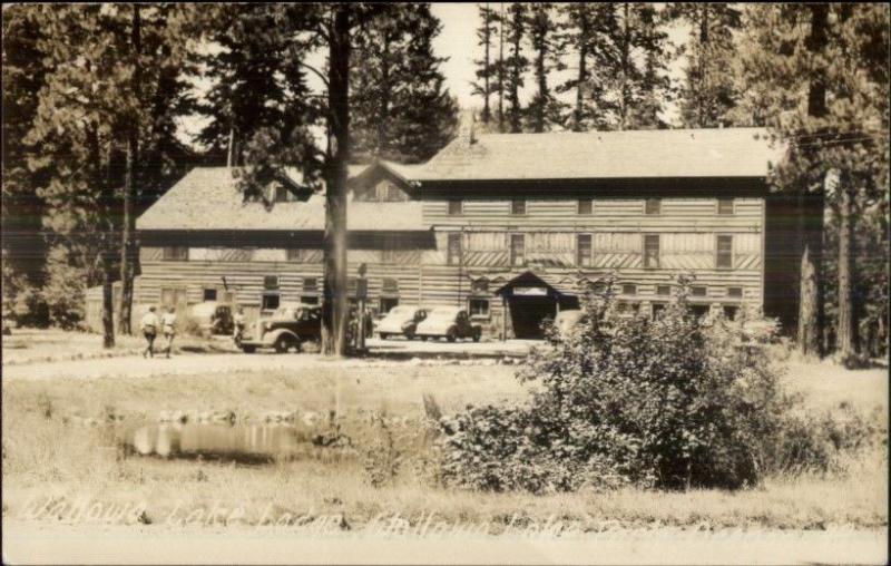
[[[364,166],[351,166],[355,176]],[[298,172],[288,172],[301,185]],[[382,214],[382,206],[386,213]],[[351,231],[424,231],[420,202],[350,202],[347,227]],[[227,167],[196,167],[174,185],[136,221],[140,231],[164,230],[271,230],[322,231],[325,198],[313,194],[309,201],[274,203],[244,202],[236,179]]]

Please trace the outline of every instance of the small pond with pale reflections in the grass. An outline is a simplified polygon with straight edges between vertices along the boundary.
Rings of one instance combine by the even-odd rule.
[[[270,461],[295,457],[309,442],[291,424],[159,423],[127,433],[119,441],[141,456]]]

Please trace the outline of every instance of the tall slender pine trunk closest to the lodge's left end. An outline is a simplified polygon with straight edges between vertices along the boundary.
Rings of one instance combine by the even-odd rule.
[[[131,45],[134,75],[133,92],[139,96],[141,85],[139,68],[140,51],[140,20],[139,6],[133,6],[133,30]],[[130,334],[130,313],[133,311],[133,280],[135,274],[135,245],[134,232],[136,230],[136,217],[133,214],[133,201],[136,195],[136,167],[138,159],[138,119],[136,116],[130,118],[127,124],[127,170],[124,180],[124,218],[121,226],[120,242],[120,305],[118,310],[118,331]]]

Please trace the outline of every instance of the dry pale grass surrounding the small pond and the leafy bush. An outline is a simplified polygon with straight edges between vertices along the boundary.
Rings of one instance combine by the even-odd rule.
[[[887,411],[880,372],[793,370],[787,383],[814,408],[845,403],[880,420]],[[832,384],[845,378],[850,387]],[[862,389],[874,393],[862,394]],[[499,365],[393,364],[385,370],[325,368],[276,374],[108,378],[89,383],[4,382],[3,513],[22,516],[29,499],[53,498],[58,505],[87,498],[106,506],[145,504],[141,520],[150,523],[194,520],[216,507],[239,508],[241,520],[248,524],[342,515],[345,525],[362,525],[398,514],[410,521],[433,516],[481,524],[495,533],[511,521],[541,524],[550,518],[590,529],[887,525],[883,449],[845,462],[845,471],[768,477],[757,488],[733,492],[624,489],[531,496],[431,487],[430,467],[418,463],[427,455],[419,442],[424,393],[432,393],[446,412],[471,402],[520,402],[528,394],[512,379],[512,369]],[[344,430],[354,439],[353,449],[319,448],[296,461],[253,466],[123,457],[114,449],[107,428],[78,424],[76,418],[115,413],[124,416],[127,426],[151,420],[163,410],[227,409],[252,418],[273,410],[326,414],[335,407]],[[391,433],[405,452],[401,465],[394,466],[393,481],[380,488],[371,487],[368,466],[374,460],[370,455],[380,455],[384,432],[371,423],[371,411],[396,418]]]

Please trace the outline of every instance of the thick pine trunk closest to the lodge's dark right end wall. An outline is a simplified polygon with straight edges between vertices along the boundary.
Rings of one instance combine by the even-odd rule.
[[[811,36],[809,50],[819,53],[826,45],[829,7],[810,4]],[[807,91],[807,114],[813,118],[826,115],[825,74],[817,70],[811,79]],[[821,289],[821,250],[823,246],[823,194],[809,198],[806,187],[800,188],[799,198],[802,215],[801,284],[799,303],[799,349],[803,354],[822,355],[823,349],[823,301]],[[811,201],[810,206],[805,203]]]

